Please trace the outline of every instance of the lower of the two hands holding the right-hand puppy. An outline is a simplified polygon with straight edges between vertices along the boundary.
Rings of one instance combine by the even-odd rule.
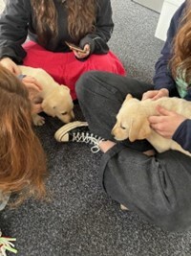
[[[159,116],[150,116],[148,118],[151,128],[154,128],[164,138],[171,139],[176,129],[186,120],[184,116],[169,111],[161,106],[157,106]]]

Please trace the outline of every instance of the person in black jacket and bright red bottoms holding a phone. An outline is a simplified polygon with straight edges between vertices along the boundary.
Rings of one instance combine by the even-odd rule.
[[[66,84],[75,100],[74,84],[84,72],[125,75],[107,44],[113,29],[110,0],[7,1],[0,16],[0,63],[16,75],[17,64],[41,67]],[[30,40],[24,43],[28,35]],[[66,42],[84,53],[71,50]]]

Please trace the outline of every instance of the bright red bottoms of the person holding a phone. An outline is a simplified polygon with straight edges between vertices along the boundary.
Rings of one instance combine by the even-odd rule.
[[[24,65],[43,68],[55,81],[65,84],[71,89],[74,100],[76,99],[75,81],[84,72],[99,70],[122,76],[126,74],[122,63],[111,51],[106,55],[92,55],[85,61],[79,61],[74,57],[73,52],[53,53],[32,41],[27,42],[24,48],[27,51]]]

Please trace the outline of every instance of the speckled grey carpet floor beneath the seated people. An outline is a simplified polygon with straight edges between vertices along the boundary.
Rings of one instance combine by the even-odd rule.
[[[129,76],[152,81],[163,45],[154,36],[159,13],[130,0],[112,0],[112,5],[116,27],[111,49]],[[74,112],[83,120],[77,105]],[[57,143],[53,133],[60,126],[46,117],[46,125],[35,129],[49,159],[52,201],[29,199],[0,213],[0,227],[17,238],[19,256],[191,255],[191,232],[167,233],[133,212],[122,212],[100,185],[101,153],[91,153],[84,144]]]

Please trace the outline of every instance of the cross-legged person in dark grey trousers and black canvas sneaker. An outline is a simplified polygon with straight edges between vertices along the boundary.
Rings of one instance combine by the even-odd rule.
[[[147,141],[117,143],[111,130],[128,93],[139,100],[169,95],[191,100],[190,21],[189,0],[172,18],[156,64],[155,85],[107,72],[88,72],[76,83],[87,123],[71,123],[55,132],[58,141],[90,143],[93,151],[101,150],[100,177],[106,193],[168,231],[191,228],[191,157],[180,151],[148,156],[143,152],[153,148]],[[150,126],[191,152],[191,120],[162,107],[158,111],[158,116],[149,117]]]

